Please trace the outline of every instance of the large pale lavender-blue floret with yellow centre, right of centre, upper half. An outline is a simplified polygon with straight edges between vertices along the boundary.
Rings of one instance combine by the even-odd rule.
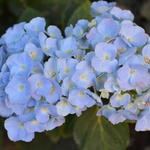
[[[99,43],[95,48],[95,57],[92,58],[92,67],[97,72],[114,72],[118,66],[116,47],[113,44]]]

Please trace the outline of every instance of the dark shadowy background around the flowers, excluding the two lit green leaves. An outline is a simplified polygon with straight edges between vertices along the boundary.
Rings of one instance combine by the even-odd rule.
[[[85,0],[0,0],[0,35],[13,24],[29,21],[36,16],[45,17],[47,24],[57,25],[63,30],[73,12],[84,2]],[[150,0],[116,2],[119,7],[131,10],[135,15],[135,22],[150,34]],[[75,116],[73,118],[76,119]],[[27,144],[11,142],[3,128],[3,120],[0,128],[0,150],[78,150],[70,135],[72,127],[67,123],[61,127],[68,131],[68,135],[63,138],[59,137],[60,130],[55,129],[49,133],[37,134],[35,140]],[[128,150],[150,150],[150,132],[135,132],[134,125],[130,125]]]

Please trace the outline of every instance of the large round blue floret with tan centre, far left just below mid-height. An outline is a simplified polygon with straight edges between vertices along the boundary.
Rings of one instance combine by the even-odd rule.
[[[9,101],[14,104],[26,104],[30,98],[30,84],[20,77],[14,76],[5,88]]]

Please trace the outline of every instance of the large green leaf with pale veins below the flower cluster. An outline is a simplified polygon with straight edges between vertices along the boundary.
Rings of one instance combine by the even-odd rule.
[[[126,123],[111,124],[104,117],[96,116],[93,107],[76,121],[74,139],[81,150],[125,150],[129,140]]]

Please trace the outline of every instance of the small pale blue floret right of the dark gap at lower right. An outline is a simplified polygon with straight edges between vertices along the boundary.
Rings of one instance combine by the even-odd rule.
[[[130,103],[130,94],[114,93],[110,98],[110,104],[113,107],[126,106]]]

